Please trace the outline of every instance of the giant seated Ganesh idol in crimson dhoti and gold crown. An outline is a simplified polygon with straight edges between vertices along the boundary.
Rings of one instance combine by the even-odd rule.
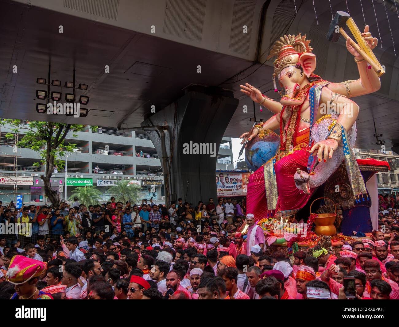
[[[362,36],[371,49],[377,45],[368,26]],[[354,201],[368,197],[352,152],[359,107],[350,98],[377,91],[380,81],[349,38],[347,48],[359,69],[356,81],[332,83],[314,74],[316,55],[310,40],[299,33],[280,37],[269,56],[277,56],[273,81],[275,91],[278,86],[284,91],[280,102],[248,83],[241,85],[243,93],[274,113],[267,122],[256,125],[251,135],[247,132],[241,138],[250,141],[258,134],[276,135],[274,130],[279,130],[280,138],[276,155],[249,178],[247,213],[253,213],[255,222],[266,217],[282,222],[297,219],[298,212],[342,163]]]

